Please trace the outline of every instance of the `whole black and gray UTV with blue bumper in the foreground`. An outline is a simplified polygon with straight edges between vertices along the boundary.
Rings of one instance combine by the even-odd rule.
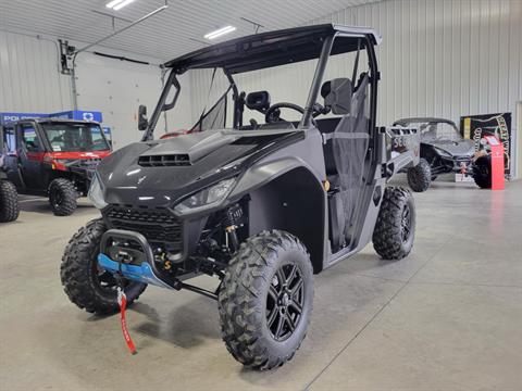
[[[412,249],[412,195],[387,181],[418,164],[420,141],[417,128],[376,127],[380,41],[369,28],[325,24],[243,37],[164,64],[170,75],[153,114],[139,110],[141,142],[98,166],[89,197],[101,218],[65,249],[61,278],[71,301],[110,313],[121,289],[128,303],[148,283],[191,290],[217,301],[223,340],[238,362],[270,369],[290,360],[309,325],[313,274],[372,240],[386,260]],[[325,80],[328,60],[350,52],[351,79]],[[234,79],[313,59],[304,106],[239,92]],[[181,93],[177,76],[200,68],[213,77],[222,71],[227,91],[188,134],[154,140],[160,114]],[[245,125],[247,110],[264,123]],[[283,119],[282,110],[300,121]],[[187,282],[201,274],[217,277],[215,291]]]

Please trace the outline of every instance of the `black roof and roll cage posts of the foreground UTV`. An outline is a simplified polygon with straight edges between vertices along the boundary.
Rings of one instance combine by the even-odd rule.
[[[360,39],[337,41],[334,46],[334,40],[337,37]],[[229,88],[232,88],[233,92],[233,128],[237,129],[243,124],[243,108],[245,102],[244,98],[239,93],[236,83],[234,81],[233,75],[319,59],[307,104],[304,106],[304,113],[299,124],[299,128],[308,128],[311,124],[313,105],[318,100],[318,94],[321,89],[321,81],[330,55],[353,51],[359,52],[361,49],[366,50],[369,58],[369,76],[371,88],[370,128],[375,128],[377,99],[376,92],[380,73],[377,70],[374,46],[378,45],[381,40],[381,36],[371,28],[323,24],[241,37],[208,48],[199,49],[191,53],[171,60],[163,64],[163,67],[170,68],[171,72],[156,110],[150,117],[149,124],[142,137],[142,141],[152,139],[154,127],[161,113],[175,106],[177,98],[181,93],[181,85],[176,76],[184,74],[188,70],[223,70],[231,84]],[[357,76],[358,61],[359,55],[357,56],[353,70],[355,77]],[[352,80],[352,83],[355,81],[356,80]],[[172,98],[172,101],[166,102],[172,86],[175,87],[176,91]]]

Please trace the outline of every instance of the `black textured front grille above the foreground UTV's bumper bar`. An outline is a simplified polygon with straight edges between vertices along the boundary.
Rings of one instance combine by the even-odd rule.
[[[111,205],[104,213],[112,228],[141,234],[152,244],[183,250],[182,224],[166,209],[136,209]]]

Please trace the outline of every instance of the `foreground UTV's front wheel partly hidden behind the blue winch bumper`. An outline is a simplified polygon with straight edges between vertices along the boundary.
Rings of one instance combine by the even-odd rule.
[[[119,310],[116,281],[98,266],[100,241],[107,227],[101,218],[82,227],[70,240],[62,257],[60,276],[69,299],[89,313],[108,314]],[[124,282],[128,304],[147,288],[146,283]]]

